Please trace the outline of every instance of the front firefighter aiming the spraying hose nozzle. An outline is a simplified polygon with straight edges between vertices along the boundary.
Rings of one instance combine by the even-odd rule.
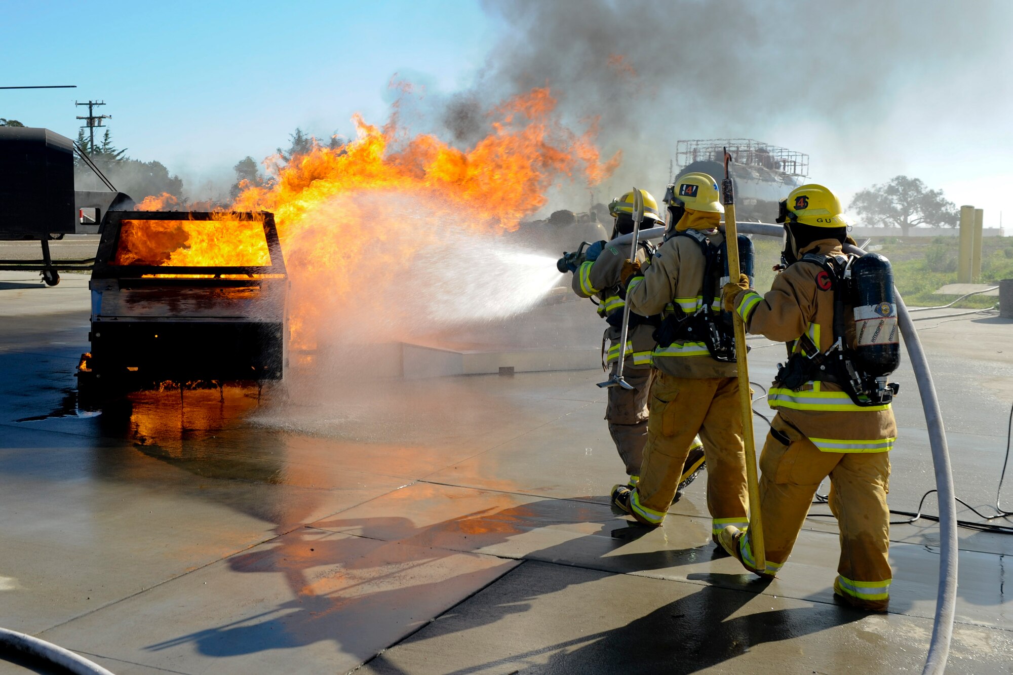
[[[655,227],[661,223],[657,202],[646,191],[640,191],[643,198],[644,222],[641,228]],[[633,193],[616,198],[609,205],[609,213],[615,220],[612,238],[633,231]],[[574,267],[572,288],[581,298],[598,299],[598,314],[608,322],[602,341],[603,363],[615,373],[619,366],[622,346],[619,344],[625,302],[620,297],[619,276],[623,269],[628,245],[622,249],[610,246],[605,241],[592,244],[585,253],[579,267]],[[642,242],[637,250],[637,260],[643,265],[649,261],[651,246]],[[659,317],[645,317],[630,314],[630,325],[626,340],[623,377],[633,389],[610,387],[605,419],[609,424],[619,457],[626,466],[627,484],[635,485],[640,475],[640,461],[643,445],[647,440],[647,393],[652,379],[651,352],[654,349],[654,328]],[[699,440],[692,456],[687,458],[685,471],[681,476],[683,484],[695,477],[703,464],[703,450]],[[670,502],[672,500],[670,499]]]

